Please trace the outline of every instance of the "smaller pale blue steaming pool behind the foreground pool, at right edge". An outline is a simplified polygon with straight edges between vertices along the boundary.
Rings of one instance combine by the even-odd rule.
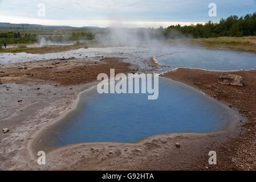
[[[247,52],[214,49],[186,49],[172,55],[157,57],[160,64],[174,68],[200,68],[216,71],[256,69],[256,55]]]

